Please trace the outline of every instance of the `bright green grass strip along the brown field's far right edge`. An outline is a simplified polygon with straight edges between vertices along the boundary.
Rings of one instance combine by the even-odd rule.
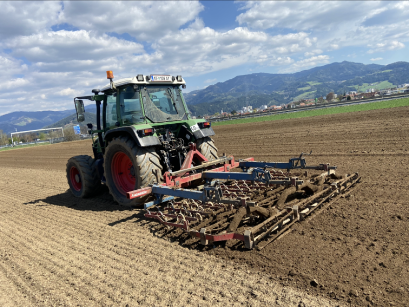
[[[371,102],[371,103],[365,103],[365,104],[348,105],[348,106],[329,107],[329,108],[322,108],[322,109],[316,109],[316,110],[311,110],[311,111],[300,111],[300,112],[276,114],[276,115],[264,116],[264,117],[226,120],[226,121],[221,121],[221,122],[213,122],[212,126],[255,123],[255,122],[264,122],[264,121],[271,121],[271,120],[288,119],[288,118],[302,118],[302,117],[320,116],[320,115],[328,115],[328,114],[370,111],[370,110],[377,110],[377,109],[382,109],[382,108],[391,108],[391,107],[398,107],[398,106],[409,106],[409,98]]]

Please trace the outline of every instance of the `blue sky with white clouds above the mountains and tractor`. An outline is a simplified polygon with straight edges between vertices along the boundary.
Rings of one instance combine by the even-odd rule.
[[[0,115],[72,108],[136,74],[237,75],[407,60],[409,2],[0,2]]]

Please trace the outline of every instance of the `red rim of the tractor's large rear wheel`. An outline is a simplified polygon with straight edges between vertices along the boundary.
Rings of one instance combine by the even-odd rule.
[[[135,171],[131,159],[124,152],[117,152],[113,155],[112,164],[112,178],[115,186],[122,193],[132,191],[135,189]]]

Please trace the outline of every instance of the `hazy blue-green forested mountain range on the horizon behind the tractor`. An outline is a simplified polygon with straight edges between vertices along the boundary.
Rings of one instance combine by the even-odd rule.
[[[344,61],[292,74],[256,73],[234,77],[209,85],[206,89],[184,93],[189,110],[195,116],[238,111],[243,106],[280,105],[330,92],[381,89],[409,83],[409,63],[389,65]],[[85,106],[87,120],[95,124],[96,106]],[[88,122],[89,122],[88,121]],[[65,111],[12,112],[0,116],[0,129],[18,131],[77,124],[75,109]],[[84,123],[81,123],[84,124]]]

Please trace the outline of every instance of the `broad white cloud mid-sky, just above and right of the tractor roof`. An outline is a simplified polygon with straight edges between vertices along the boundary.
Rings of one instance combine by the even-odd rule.
[[[177,41],[177,44],[173,42]],[[238,27],[219,32],[205,27],[201,19],[196,19],[187,29],[165,35],[152,47],[160,50],[155,63],[173,63],[163,68],[167,72],[181,70],[185,75],[203,74],[234,67],[244,63],[269,63],[275,65],[280,54],[290,55],[313,46],[315,37],[308,33],[289,33],[270,36],[262,31],[251,31]],[[195,46],[192,48],[192,46]],[[150,62],[151,55],[141,55],[135,62]]]

